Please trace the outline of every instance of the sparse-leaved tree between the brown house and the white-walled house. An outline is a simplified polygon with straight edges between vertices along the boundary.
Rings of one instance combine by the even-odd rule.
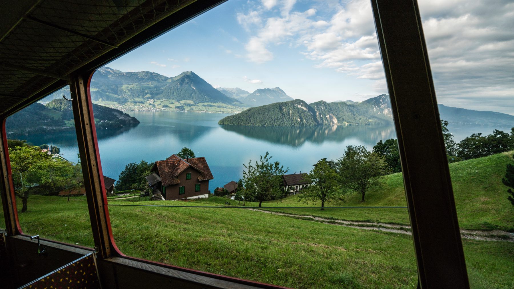
[[[283,194],[282,190],[282,175],[287,172],[284,166],[279,162],[270,162],[272,156],[269,152],[260,156],[260,161],[248,162],[244,165],[246,170],[243,170],[243,184],[245,187],[246,195],[252,196],[259,202],[259,207],[262,201],[279,199]]]

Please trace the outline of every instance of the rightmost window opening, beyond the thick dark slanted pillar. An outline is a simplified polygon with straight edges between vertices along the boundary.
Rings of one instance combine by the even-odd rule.
[[[514,30],[507,28],[514,6],[420,0],[419,10],[469,281],[473,288],[509,288],[514,206],[502,178],[514,163]]]

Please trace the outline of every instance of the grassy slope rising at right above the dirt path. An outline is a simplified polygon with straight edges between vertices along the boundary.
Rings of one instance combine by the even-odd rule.
[[[464,229],[503,229],[514,232],[514,206],[507,200],[507,187],[502,183],[505,167],[512,163],[514,151],[450,164],[450,174],[459,225]],[[384,177],[384,186],[346,198],[342,204],[326,206],[407,206],[401,173]],[[298,196],[282,202],[265,202],[264,206],[319,206],[319,203],[298,202]],[[290,214],[310,214],[340,220],[376,221],[409,224],[407,209],[275,209]]]

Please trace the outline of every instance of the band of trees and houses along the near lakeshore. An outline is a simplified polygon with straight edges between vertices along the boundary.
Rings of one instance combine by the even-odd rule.
[[[514,128],[511,133],[494,130],[488,136],[474,133],[456,143],[448,132],[447,122],[442,124],[449,163],[514,149]],[[22,211],[27,210],[29,195],[57,195],[68,200],[84,196],[80,157],[72,163],[59,155],[56,146],[33,146],[20,140],[8,140],[8,147],[15,192],[23,201]],[[242,201],[243,205],[258,202],[259,206],[263,201],[298,195],[299,200],[320,202],[323,208],[326,202],[344,202],[349,194],[360,194],[361,201],[365,201],[366,191],[380,187],[382,176],[401,172],[395,139],[380,140],[371,151],[364,146],[347,146],[339,159],[321,159],[307,173],[288,174],[290,170],[274,162],[269,152],[243,166],[242,179],[232,180],[211,193],[209,181],[214,176],[206,158],[196,157],[193,150],[184,147],[166,160],[127,164],[118,181],[104,176],[104,189],[109,199],[192,200],[218,196]]]

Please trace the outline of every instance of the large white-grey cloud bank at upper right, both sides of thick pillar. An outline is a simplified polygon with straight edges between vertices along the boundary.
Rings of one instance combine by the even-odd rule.
[[[263,0],[238,15],[249,33],[249,61],[272,61],[274,47],[286,44],[303,50],[315,68],[370,80],[371,89],[387,92],[369,0],[320,0],[301,11],[295,3]],[[507,102],[514,96],[514,3],[419,0],[419,10],[438,101],[514,114]]]

